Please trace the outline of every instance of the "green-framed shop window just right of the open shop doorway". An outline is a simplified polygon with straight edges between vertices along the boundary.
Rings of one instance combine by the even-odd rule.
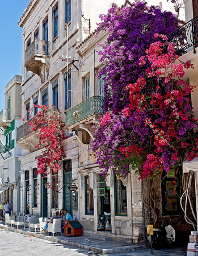
[[[114,176],[115,189],[115,213],[116,215],[127,216],[127,187],[123,181],[116,179]]]

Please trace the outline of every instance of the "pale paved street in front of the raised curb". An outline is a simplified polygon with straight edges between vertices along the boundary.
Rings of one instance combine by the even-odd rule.
[[[102,242],[102,241],[101,241]],[[1,251],[5,251],[6,255],[12,256],[82,256],[82,255],[100,255],[93,254],[90,251],[61,245],[60,243],[54,243],[46,241],[40,238],[31,236],[24,236],[23,234],[9,232],[4,229],[0,229],[0,245]],[[186,249],[166,249],[166,250],[154,250],[155,255],[158,256],[186,256]],[[112,256],[149,256],[150,249],[138,250],[131,253],[110,254]]]

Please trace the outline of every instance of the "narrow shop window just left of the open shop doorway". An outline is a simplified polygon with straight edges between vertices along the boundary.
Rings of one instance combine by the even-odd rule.
[[[94,214],[94,193],[89,185],[89,176],[85,176],[85,214]]]

